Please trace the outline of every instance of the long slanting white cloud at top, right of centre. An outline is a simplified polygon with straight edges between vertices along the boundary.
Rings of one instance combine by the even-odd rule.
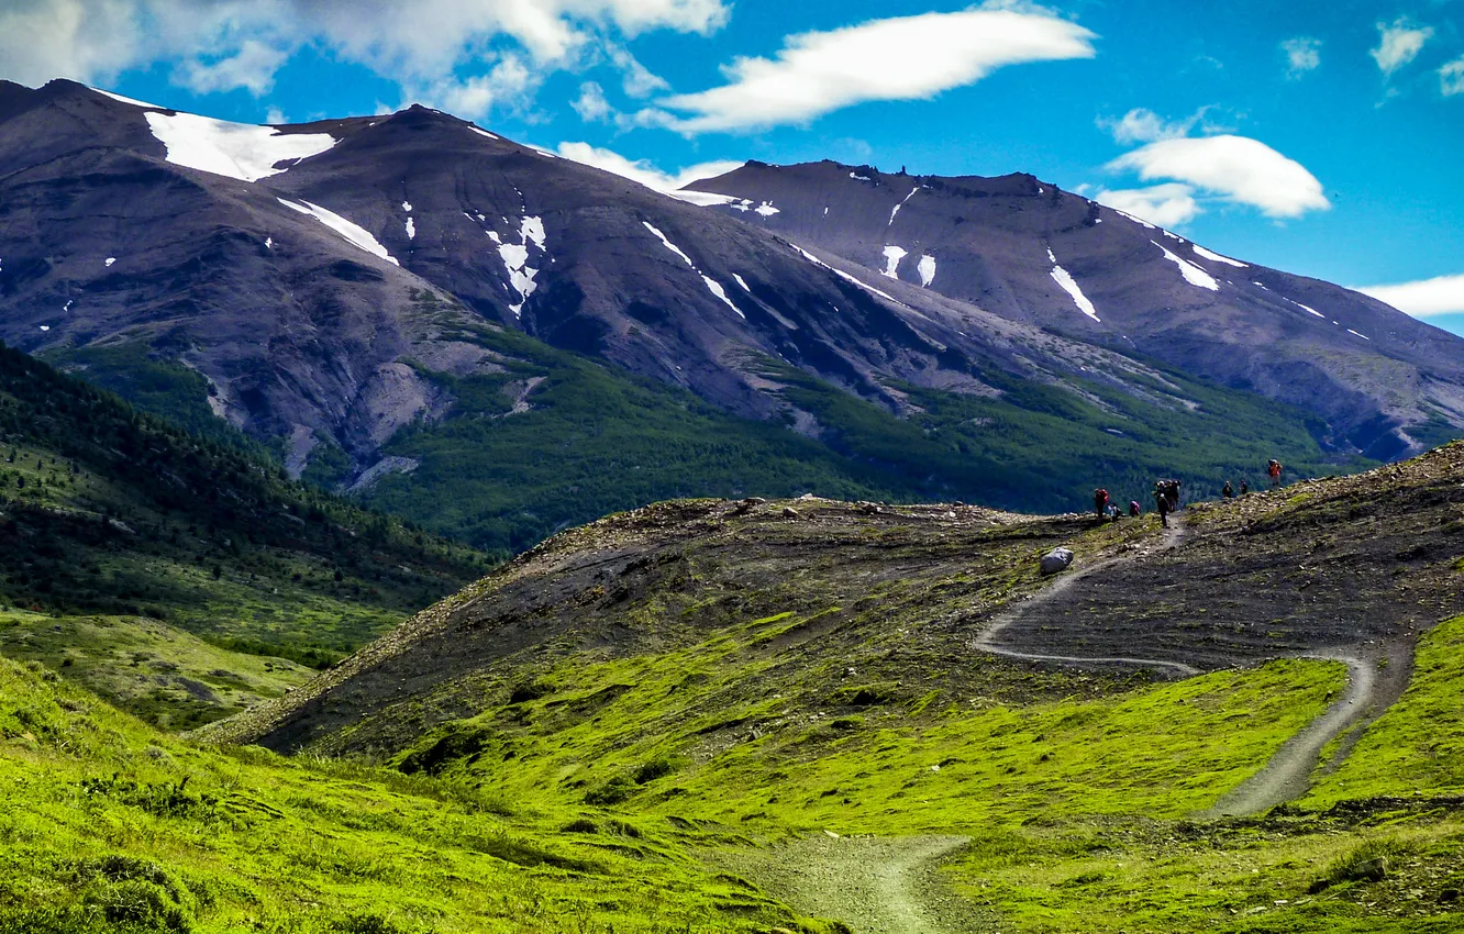
[[[930,98],[1023,61],[1091,59],[1088,29],[1047,12],[976,9],[875,19],[783,40],[776,59],[739,57],[728,83],[662,101],[685,133],[807,123],[862,101]]]

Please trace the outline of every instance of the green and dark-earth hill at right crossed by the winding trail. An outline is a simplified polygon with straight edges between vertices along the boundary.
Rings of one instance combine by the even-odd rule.
[[[1173,548],[1154,520],[665,504],[556,536],[203,735],[578,810],[590,840],[744,836],[707,859],[801,906],[867,836],[960,834],[940,878],[996,930],[1442,933],[1464,924],[1461,530],[1464,445],[1196,507]],[[1209,670],[984,651],[1057,543],[1113,564],[1012,644]],[[1386,681],[1419,632],[1411,687],[1309,795],[1199,817],[1341,697],[1344,666],[1304,656],[1373,653]],[[808,856],[826,836],[855,855]]]

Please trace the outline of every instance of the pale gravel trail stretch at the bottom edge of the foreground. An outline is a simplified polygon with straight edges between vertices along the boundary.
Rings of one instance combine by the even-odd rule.
[[[829,837],[763,851],[720,852],[739,873],[805,915],[833,918],[858,934],[975,934],[982,915],[940,877],[941,858],[966,837]]]

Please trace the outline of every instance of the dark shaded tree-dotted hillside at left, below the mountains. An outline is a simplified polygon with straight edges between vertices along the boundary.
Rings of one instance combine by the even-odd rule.
[[[192,435],[3,347],[0,536],[0,640],[54,665],[79,651],[89,663],[73,657],[76,672],[101,665],[94,643],[143,629],[154,635],[139,651],[170,665],[203,651],[182,649],[180,638],[193,644],[184,632],[214,650],[328,665],[486,568],[470,549],[283,479],[242,436]],[[54,627],[89,635],[50,638]],[[201,670],[255,665],[215,662]],[[246,694],[268,697],[300,676]],[[151,690],[104,681],[116,673],[91,684],[174,723],[239,707],[228,690],[211,692],[217,703],[195,690],[190,701],[170,678],[154,701]]]

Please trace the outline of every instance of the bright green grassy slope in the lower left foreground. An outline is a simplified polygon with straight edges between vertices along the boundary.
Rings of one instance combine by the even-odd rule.
[[[688,855],[716,836],[199,750],[0,660],[7,934],[829,930]]]

